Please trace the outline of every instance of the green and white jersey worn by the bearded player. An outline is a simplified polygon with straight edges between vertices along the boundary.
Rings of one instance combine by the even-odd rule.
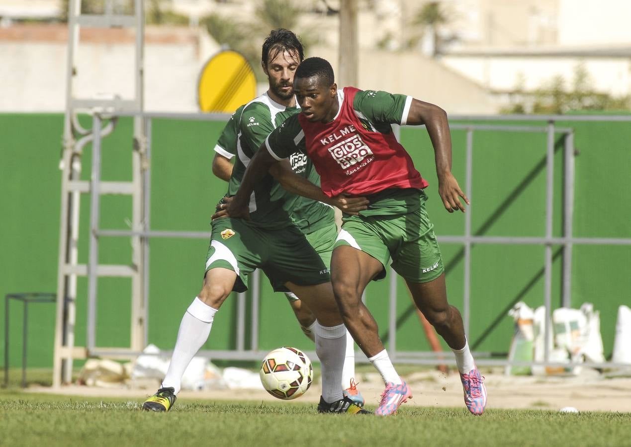
[[[215,151],[227,158],[237,155],[228,195],[236,194],[245,168],[269,132],[299,111],[297,107],[285,107],[274,102],[267,93],[237,109],[215,146]],[[295,173],[320,185],[320,177],[305,154],[291,154],[290,163]],[[271,175],[266,175],[256,185],[249,209],[256,224],[276,226],[294,221],[303,233],[311,233],[334,222],[332,207],[287,192]]]

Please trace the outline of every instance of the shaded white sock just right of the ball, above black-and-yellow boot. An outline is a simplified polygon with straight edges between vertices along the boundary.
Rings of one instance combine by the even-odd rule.
[[[325,327],[315,322],[315,353],[322,368],[322,398],[333,403],[343,398],[342,368],[346,347],[346,326]]]

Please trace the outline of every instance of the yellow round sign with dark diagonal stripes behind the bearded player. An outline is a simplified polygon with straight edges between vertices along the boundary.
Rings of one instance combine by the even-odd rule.
[[[198,104],[202,112],[234,112],[254,96],[254,71],[236,51],[219,52],[199,74]]]

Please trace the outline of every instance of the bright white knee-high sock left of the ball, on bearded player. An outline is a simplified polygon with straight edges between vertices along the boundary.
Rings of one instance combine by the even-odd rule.
[[[180,392],[184,371],[195,354],[208,340],[216,311],[195,297],[182,317],[175,349],[171,356],[171,363],[168,364],[167,375],[162,381],[162,388],[172,386],[175,388],[175,394]]]

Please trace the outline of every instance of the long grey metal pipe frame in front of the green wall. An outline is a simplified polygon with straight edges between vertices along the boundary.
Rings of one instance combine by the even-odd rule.
[[[123,266],[99,266],[98,265],[98,238],[100,236],[119,236],[138,238],[141,241],[141,250],[144,253],[145,258],[141,268],[138,269],[141,282],[144,284],[144,293],[148,291],[148,250],[149,241],[151,238],[206,238],[211,236],[209,231],[155,231],[150,228],[150,166],[151,166],[151,120],[152,119],[183,119],[183,120],[227,120],[228,115],[223,113],[133,113],[133,112],[121,112],[119,116],[128,117],[141,117],[145,123],[146,131],[146,151],[145,151],[145,166],[146,171],[144,173],[144,201],[143,201],[143,215],[144,220],[141,226],[134,226],[133,229],[100,229],[99,217],[100,217],[100,194],[103,192],[105,182],[100,182],[100,140],[102,138],[102,117],[99,113],[95,113],[93,116],[93,155],[92,155],[92,180],[90,182],[91,191],[91,206],[90,206],[90,258],[88,265],[83,272],[88,276],[88,337],[87,345],[85,347],[85,356],[104,356],[104,357],[119,357],[119,358],[133,358],[141,354],[141,349],[132,346],[130,349],[126,348],[103,348],[98,347],[95,343],[95,329],[96,329],[96,309],[97,309],[97,293],[96,293],[96,281],[98,276],[102,276],[109,270],[110,274],[114,274],[117,269],[124,268]],[[547,122],[547,125],[487,125],[487,124],[451,124],[451,129],[454,131],[466,132],[466,175],[464,180],[465,192],[469,198],[473,197],[472,190],[472,178],[473,178],[473,136],[476,131],[493,131],[493,132],[539,132],[546,134],[546,225],[545,235],[541,237],[499,237],[499,236],[474,236],[471,234],[471,214],[475,212],[475,206],[471,206],[466,213],[464,235],[463,236],[439,236],[438,240],[444,243],[458,243],[464,247],[464,309],[463,320],[465,330],[469,330],[469,318],[470,318],[470,297],[471,297],[471,247],[473,244],[504,244],[504,245],[543,245],[545,247],[545,254],[543,257],[543,264],[545,265],[545,294],[544,305],[546,308],[545,330],[546,330],[546,347],[545,347],[545,359],[543,362],[519,362],[508,361],[501,359],[484,359],[485,354],[478,352],[478,363],[482,365],[546,365],[546,366],[574,366],[574,364],[567,363],[555,363],[550,361],[548,346],[551,344],[552,330],[551,330],[551,284],[552,284],[552,247],[553,245],[562,245],[563,247],[563,306],[569,306],[570,304],[570,284],[572,274],[572,247],[576,244],[592,244],[592,245],[631,245],[631,238],[575,238],[572,236],[572,220],[573,220],[573,202],[574,202],[574,132],[570,127],[556,127],[555,122],[562,120],[563,122],[571,121],[617,121],[617,122],[629,122],[631,117],[629,116],[545,116],[545,117],[533,117],[526,115],[517,116],[493,116],[493,117],[451,117],[453,121],[459,120],[494,120],[494,121],[537,121]],[[563,236],[553,237],[552,233],[552,219],[553,219],[553,172],[554,172],[554,151],[555,151],[555,135],[562,134],[563,136],[563,163],[564,167],[564,207],[563,207]],[[111,185],[110,185],[111,186]],[[136,206],[136,202],[134,202]],[[61,264],[60,264],[61,266]],[[79,266],[81,267],[81,266]],[[60,267],[61,268],[61,267]],[[126,267],[128,269],[136,269],[134,265],[132,267]],[[77,267],[78,269],[78,267]],[[100,270],[102,269],[102,270]],[[416,363],[416,364],[441,364],[452,363],[451,356],[445,356],[445,353],[441,352],[404,352],[396,350],[396,304],[397,304],[397,282],[396,274],[390,270],[389,279],[389,354],[393,361],[399,363]],[[250,349],[245,349],[245,325],[247,324],[245,319],[246,303],[245,294],[239,294],[237,298],[237,349],[232,351],[220,351],[220,350],[203,350],[199,351],[199,356],[212,357],[213,359],[225,359],[225,360],[259,360],[266,354],[266,352],[259,351],[259,273],[258,270],[252,275],[251,286],[251,299],[252,299],[252,311],[251,321],[249,325],[251,327],[251,340]],[[143,299],[145,296],[142,297]],[[132,297],[132,303],[136,302],[138,297]],[[146,311],[148,305],[144,306]],[[146,325],[144,325],[146,331]],[[160,351],[158,355],[170,355],[172,351]],[[310,352],[314,354],[314,352]],[[358,352],[357,361],[365,362],[367,359],[361,352]],[[613,363],[582,363],[583,366],[594,367],[614,367],[618,366]]]

